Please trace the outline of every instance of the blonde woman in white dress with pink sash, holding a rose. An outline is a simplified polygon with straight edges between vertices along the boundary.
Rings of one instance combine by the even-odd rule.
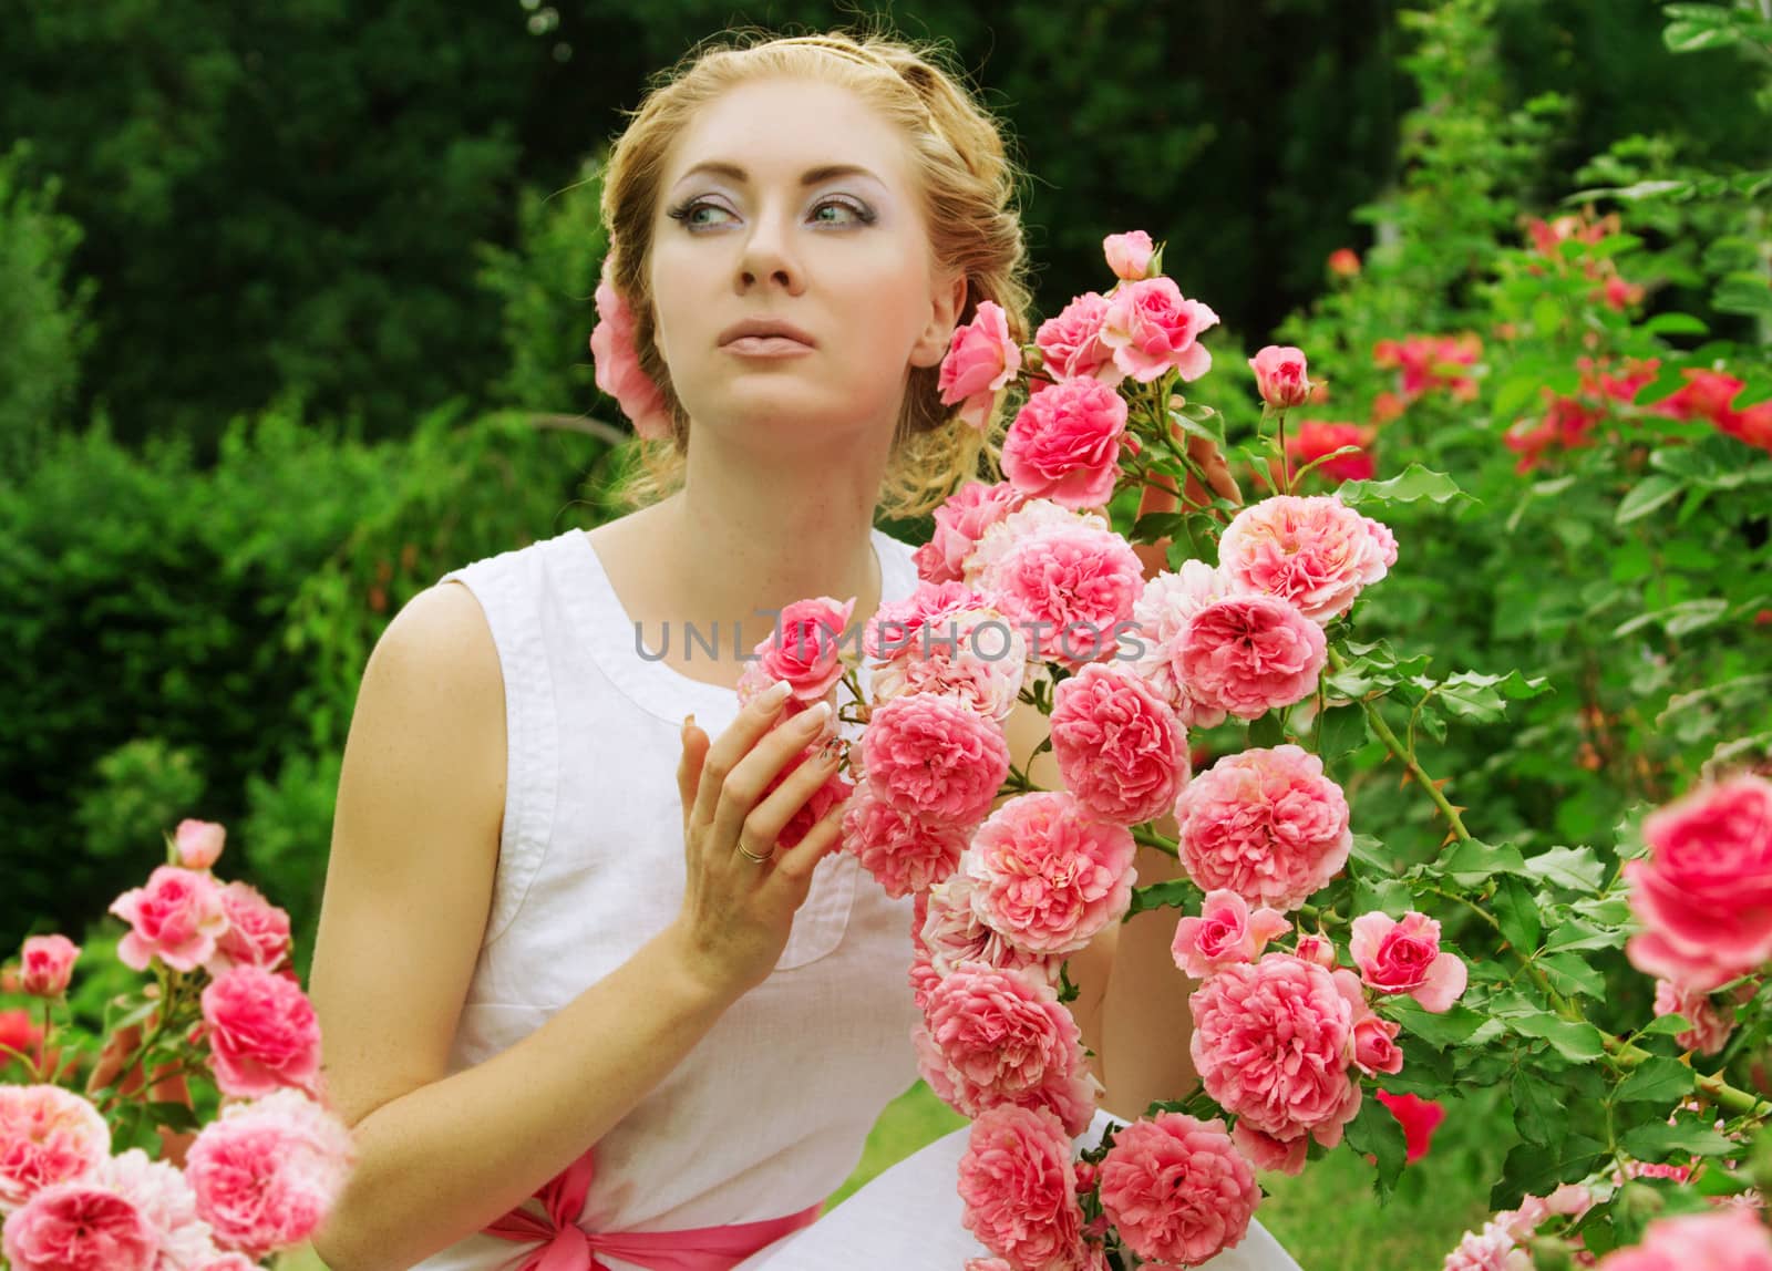
[[[360,1149],[333,1271],[983,1255],[959,1136],[813,1225],[916,1080],[911,901],[808,811],[835,726],[741,705],[735,651],[914,589],[872,522],[975,471],[936,381],[983,299],[1026,340],[1012,186],[964,89],[877,39],[709,51],[622,135],[643,506],[447,574],[365,669],[312,972]]]

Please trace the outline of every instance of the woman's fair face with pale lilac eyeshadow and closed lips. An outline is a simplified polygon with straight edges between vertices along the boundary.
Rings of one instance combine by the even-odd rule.
[[[806,80],[741,85],[677,140],[650,285],[691,420],[764,444],[890,437],[911,366],[941,361],[966,296],[964,276],[934,276],[893,126]],[[804,340],[723,342],[751,319]]]

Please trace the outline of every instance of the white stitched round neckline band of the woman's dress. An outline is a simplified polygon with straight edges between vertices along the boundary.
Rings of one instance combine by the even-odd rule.
[[[868,536],[881,579],[881,604],[900,600],[916,586],[909,552],[893,551],[895,547],[902,549],[902,545],[879,526],[874,526]],[[718,736],[739,713],[737,689],[688,676],[659,660],[652,650],[641,655],[640,632],[617,595],[590,535],[585,529],[569,529],[560,535],[556,543],[562,549],[567,577],[572,579],[572,586],[565,591],[567,604],[574,611],[572,625],[590,646],[597,667],[649,713],[680,724],[682,717],[693,712],[696,726]],[[863,616],[863,621],[868,616]],[[703,651],[703,648],[698,646],[696,651]],[[732,657],[732,650],[725,643],[718,653]],[[865,660],[858,674],[865,689],[868,683]]]

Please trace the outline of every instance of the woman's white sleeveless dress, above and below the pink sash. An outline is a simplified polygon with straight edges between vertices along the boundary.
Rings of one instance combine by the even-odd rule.
[[[907,597],[918,582],[914,549],[881,529],[872,540],[882,600]],[[450,579],[473,591],[491,627],[509,738],[498,871],[450,1051],[454,1073],[521,1041],[677,917],[679,726],[695,712],[719,736],[737,715],[737,694],[641,648],[581,529],[450,570],[439,582]],[[643,636],[661,639],[657,630]],[[719,657],[734,659],[732,634],[718,637]],[[707,653],[696,646],[686,657]],[[865,689],[865,666],[859,676]],[[856,736],[852,726],[845,731]],[[597,1142],[579,1225],[654,1232],[760,1221],[842,1186],[881,1110],[918,1078],[909,963],[911,899],[890,899],[849,853],[819,862],[769,979]],[[1086,1142],[1109,1121],[1097,1113]],[[744,1260],[744,1271],[960,1271],[968,1257],[985,1257],[960,1225],[955,1165],[966,1133],[891,1167],[812,1227]],[[523,1252],[477,1234],[418,1267],[493,1271]],[[645,1271],[601,1257],[611,1271]],[[1297,1271],[1265,1230],[1210,1266]]]

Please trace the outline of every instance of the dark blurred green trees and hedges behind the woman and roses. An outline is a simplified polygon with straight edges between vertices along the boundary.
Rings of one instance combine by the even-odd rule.
[[[1276,335],[1368,359],[1338,379],[1364,411],[1384,388],[1373,338],[1501,312],[1476,289],[1520,216],[1584,184],[1772,161],[1767,58],[1703,39],[1676,55],[1667,12],[1639,0],[0,12],[0,630],[14,646],[0,949],[78,938],[147,873],[159,832],[198,816],[229,827],[223,873],[289,908],[303,975],[344,736],[383,627],[448,568],[610,515],[592,478],[620,462],[624,430],[587,352],[599,165],[618,112],[698,41],[879,16],[948,42],[1031,173],[1040,312],[1102,285],[1104,234],[1168,239],[1166,271],[1223,317],[1210,398],[1242,425],[1253,412],[1228,400],[1247,397],[1242,358]],[[1715,271],[1692,243],[1742,218],[1763,230],[1765,195],[1706,216],[1657,225],[1671,264],[1650,308],[1703,308]],[[1325,267],[1338,248],[1373,264],[1391,251],[1389,289],[1348,292]],[[1708,317],[1763,349],[1768,319],[1751,308]],[[1455,542],[1421,515],[1423,538]],[[918,540],[927,524],[890,529]],[[1763,522],[1744,542],[1763,559]],[[1710,561],[1731,577],[1738,563]],[[1448,604],[1441,588],[1396,588],[1380,627],[1419,627]],[[1563,634],[1522,623],[1446,643],[1485,666],[1492,648]],[[1488,768],[1473,761],[1469,779],[1504,828],[1538,818],[1604,837],[1632,795],[1574,761],[1510,766],[1494,735],[1471,745],[1460,754],[1480,749]],[[1386,813],[1377,786],[1375,818],[1437,837]],[[1423,1266],[1483,1213],[1476,1181],[1506,1147],[1487,1110],[1469,1113],[1405,1172],[1411,1218],[1380,1214],[1343,1152],[1271,1181],[1263,1221],[1311,1267]],[[914,1087],[838,1198],[957,1124]]]

